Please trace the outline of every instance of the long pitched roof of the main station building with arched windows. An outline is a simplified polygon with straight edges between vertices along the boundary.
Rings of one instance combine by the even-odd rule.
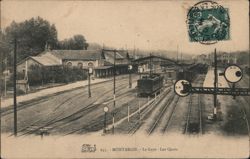
[[[98,60],[102,59],[101,50],[52,50],[50,53],[59,59]]]

